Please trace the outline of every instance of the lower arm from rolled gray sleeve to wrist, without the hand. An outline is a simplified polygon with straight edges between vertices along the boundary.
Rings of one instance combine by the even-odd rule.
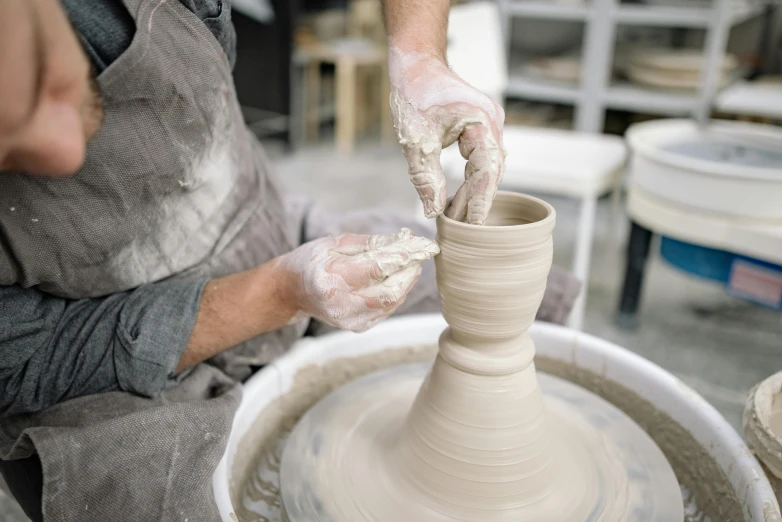
[[[0,415],[116,390],[154,395],[175,372],[286,325],[295,307],[273,263],[78,301],[0,287]]]

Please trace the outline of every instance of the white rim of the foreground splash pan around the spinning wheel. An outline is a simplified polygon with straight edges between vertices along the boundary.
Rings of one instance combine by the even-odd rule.
[[[388,348],[434,344],[446,326],[439,314],[413,315],[390,319],[362,334],[339,332],[304,339],[247,381],[226,452],[213,476],[222,520],[236,520],[228,484],[238,442],[256,416],[291,389],[300,369]],[[546,323],[535,323],[530,334],[538,354],[621,384],[689,430],[723,470],[737,497],[743,499],[745,522],[776,520],[771,517],[779,515],[779,506],[760,464],[736,431],[697,392],[652,362],[591,335]]]

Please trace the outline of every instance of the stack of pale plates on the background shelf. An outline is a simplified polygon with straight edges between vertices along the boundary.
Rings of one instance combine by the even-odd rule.
[[[625,74],[635,83],[658,89],[697,89],[704,52],[697,49],[639,49],[630,54]],[[738,60],[727,55],[721,66],[720,83],[735,77]]]

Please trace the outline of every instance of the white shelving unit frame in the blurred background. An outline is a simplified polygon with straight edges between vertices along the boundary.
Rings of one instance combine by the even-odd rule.
[[[576,130],[600,132],[606,109],[625,109],[705,120],[719,94],[720,64],[733,26],[763,13],[763,0],[737,4],[712,0],[704,7],[625,4],[620,0],[587,0],[584,5],[558,5],[545,0],[498,0],[510,56],[514,17],[583,21],[586,25],[578,85],[559,84],[511,74],[507,94],[534,101],[572,104]],[[613,84],[614,40],[618,25],[682,27],[706,30],[704,67],[693,93],[645,89],[632,83]]]

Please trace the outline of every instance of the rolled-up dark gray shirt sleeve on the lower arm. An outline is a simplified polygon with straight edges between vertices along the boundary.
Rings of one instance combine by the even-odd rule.
[[[0,416],[113,390],[165,388],[190,339],[206,279],[68,300],[0,287]]]

